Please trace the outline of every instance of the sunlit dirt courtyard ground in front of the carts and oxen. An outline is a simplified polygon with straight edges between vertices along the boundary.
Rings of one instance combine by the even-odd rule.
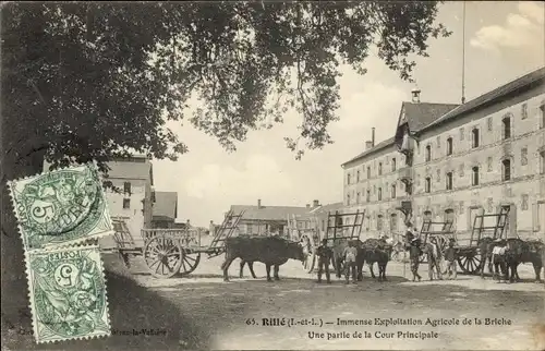
[[[114,255],[105,255],[105,261],[119,265]],[[318,285],[316,275],[305,273],[294,261],[280,268],[281,280],[275,282],[266,281],[265,266],[259,263],[254,267],[258,279],[252,279],[247,268],[239,279],[235,261],[230,268],[231,281],[223,282],[221,263],[222,256],[207,259],[204,255],[191,276],[157,279],[135,259],[130,277],[178,307],[196,330],[206,330],[203,336],[207,340],[193,336],[197,340],[191,344],[197,348],[545,348],[543,331],[538,331],[545,289],[543,283],[533,282],[531,265],[519,269],[523,282],[507,285],[464,275],[456,281],[428,281],[427,265],[423,264],[424,280],[412,282],[407,279],[408,265],[404,278],[403,264],[390,262],[388,281],[373,280],[365,268],[364,281],[346,286],[335,277],[331,285]],[[475,325],[479,322],[481,325]],[[112,323],[114,334],[123,332],[122,326]],[[162,331],[182,332],[175,325]],[[161,337],[149,338],[160,346]],[[180,344],[186,342],[180,340]]]

